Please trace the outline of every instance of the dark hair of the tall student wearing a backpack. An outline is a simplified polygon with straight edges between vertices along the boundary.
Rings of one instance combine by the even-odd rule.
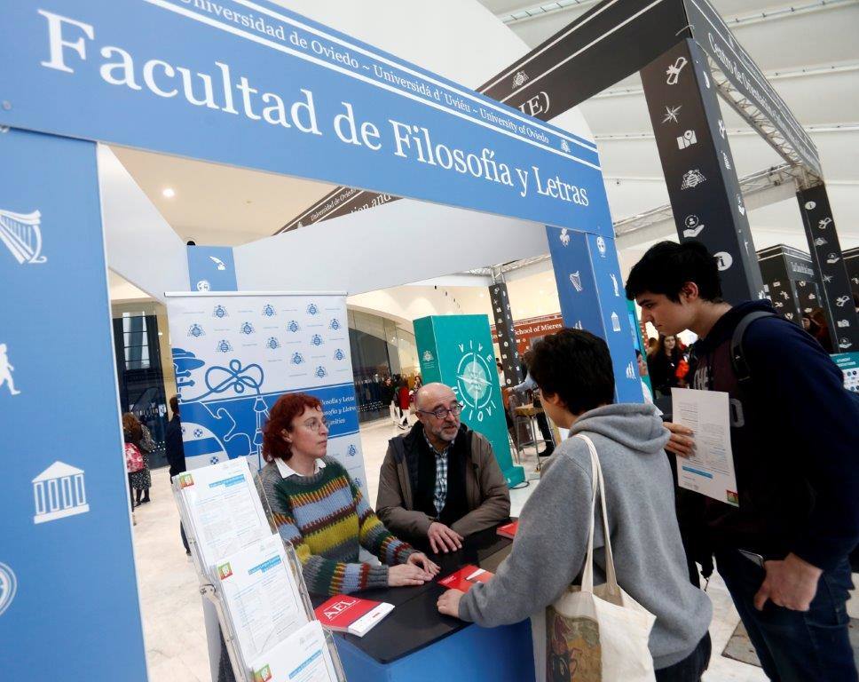
[[[705,301],[721,301],[719,268],[701,242],[659,242],[633,266],[627,277],[627,298],[645,291],[664,294],[675,303],[686,282],[695,282]]]

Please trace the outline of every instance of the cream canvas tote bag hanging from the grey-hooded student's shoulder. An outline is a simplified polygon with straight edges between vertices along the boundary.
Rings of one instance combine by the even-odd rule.
[[[567,588],[545,612],[532,615],[536,679],[537,682],[652,682],[653,658],[647,642],[656,616],[620,589],[611,553],[603,470],[593,441],[581,433],[576,438],[587,443],[594,479],[587,558],[581,586]],[[594,587],[597,491],[603,509],[606,582]]]

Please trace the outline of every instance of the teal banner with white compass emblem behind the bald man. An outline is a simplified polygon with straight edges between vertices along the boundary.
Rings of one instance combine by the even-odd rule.
[[[513,464],[504,403],[495,369],[493,337],[486,315],[444,315],[414,321],[414,340],[425,384],[438,381],[453,388],[462,403],[462,422],[482,433],[509,487],[524,481]]]

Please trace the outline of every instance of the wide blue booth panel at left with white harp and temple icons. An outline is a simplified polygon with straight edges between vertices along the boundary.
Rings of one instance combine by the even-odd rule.
[[[96,146],[0,156],[0,678],[145,680]]]

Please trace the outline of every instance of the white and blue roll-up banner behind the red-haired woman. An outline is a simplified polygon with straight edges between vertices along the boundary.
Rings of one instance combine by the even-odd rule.
[[[167,299],[189,469],[247,457],[283,393],[322,401],[328,455],[366,490],[346,299],[331,294],[177,294]]]

